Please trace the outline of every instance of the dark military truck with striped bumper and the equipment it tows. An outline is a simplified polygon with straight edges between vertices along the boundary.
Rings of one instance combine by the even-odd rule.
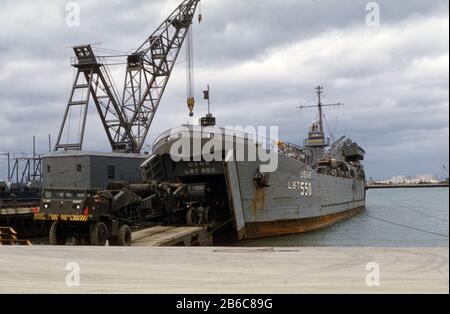
[[[51,222],[51,245],[130,246],[131,228],[208,220],[208,184],[112,183],[107,190],[46,189],[35,220]]]

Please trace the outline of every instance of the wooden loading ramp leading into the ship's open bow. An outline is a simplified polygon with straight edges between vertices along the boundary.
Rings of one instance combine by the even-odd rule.
[[[212,236],[202,226],[157,226],[132,234],[132,246],[209,246]]]

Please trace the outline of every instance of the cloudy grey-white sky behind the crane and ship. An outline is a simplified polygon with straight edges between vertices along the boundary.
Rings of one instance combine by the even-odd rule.
[[[132,52],[180,0],[75,3],[79,25],[67,23],[69,1],[1,1],[0,154],[31,152],[33,135],[37,151],[48,151],[48,134],[54,141],[73,83],[71,47]],[[219,125],[275,125],[280,138],[300,144],[315,112],[297,107],[314,104],[314,87],[322,85],[324,102],[345,104],[325,110],[327,132],[366,150],[368,177],[447,175],[447,0],[202,0],[200,11],[196,118],[206,112],[201,98],[209,84]],[[185,66],[182,52],[147,145],[190,121]],[[125,66],[111,70],[122,86]],[[110,151],[94,106],[84,144]],[[0,178],[5,169],[0,155]]]

